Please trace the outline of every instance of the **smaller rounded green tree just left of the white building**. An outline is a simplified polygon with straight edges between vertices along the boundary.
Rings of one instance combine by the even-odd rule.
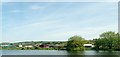
[[[84,50],[84,39],[80,36],[70,37],[67,41],[68,51],[82,51]]]

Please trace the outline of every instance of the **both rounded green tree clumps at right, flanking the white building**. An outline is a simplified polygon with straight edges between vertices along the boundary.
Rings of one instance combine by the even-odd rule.
[[[70,37],[67,41],[67,50],[85,50],[84,44],[90,43],[81,36]],[[95,50],[120,50],[120,34],[112,31],[107,31],[100,34],[99,38],[93,39],[91,42]]]

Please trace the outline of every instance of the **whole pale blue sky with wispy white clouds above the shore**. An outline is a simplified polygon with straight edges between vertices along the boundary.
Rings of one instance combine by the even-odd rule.
[[[74,35],[89,40],[118,31],[116,2],[5,2],[2,41],[67,41]]]

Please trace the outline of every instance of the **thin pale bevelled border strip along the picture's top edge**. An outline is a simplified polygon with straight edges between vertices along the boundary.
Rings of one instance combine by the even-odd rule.
[[[3,0],[2,2],[118,2],[119,0]]]

